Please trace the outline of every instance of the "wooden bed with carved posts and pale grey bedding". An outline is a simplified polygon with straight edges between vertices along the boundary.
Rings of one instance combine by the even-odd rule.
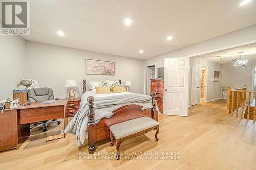
[[[87,90],[86,82],[83,80],[81,107],[64,132],[76,134],[78,145],[84,145],[87,139],[89,153],[96,151],[96,142],[110,139],[111,125],[143,116],[158,121],[156,92],[152,96],[131,92],[96,94]]]

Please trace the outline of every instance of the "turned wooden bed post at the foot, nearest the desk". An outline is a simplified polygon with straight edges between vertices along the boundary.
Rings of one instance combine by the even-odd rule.
[[[84,80],[85,81],[85,80]],[[96,125],[94,121],[94,111],[93,111],[93,96],[89,96],[87,98],[88,101],[88,123],[87,123],[87,131],[88,131],[88,151],[90,154],[93,154],[96,151],[95,143],[96,143]]]

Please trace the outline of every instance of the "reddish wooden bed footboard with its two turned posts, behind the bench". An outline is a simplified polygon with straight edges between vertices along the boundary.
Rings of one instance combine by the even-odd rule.
[[[114,124],[125,122],[127,120],[148,116],[158,121],[158,112],[156,110],[156,92],[152,91],[152,109],[142,110],[139,105],[126,105],[113,111],[111,118],[102,118],[98,124],[95,124],[94,110],[93,110],[93,96],[87,98],[89,111],[88,111],[88,145],[89,153],[96,151],[95,143],[103,139],[110,139],[109,127]]]

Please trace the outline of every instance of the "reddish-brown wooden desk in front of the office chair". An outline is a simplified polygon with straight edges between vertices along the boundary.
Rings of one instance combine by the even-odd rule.
[[[18,149],[30,136],[30,123],[65,118],[66,128],[67,103],[68,100],[59,100],[51,104],[32,102],[27,106],[0,112],[0,151]]]

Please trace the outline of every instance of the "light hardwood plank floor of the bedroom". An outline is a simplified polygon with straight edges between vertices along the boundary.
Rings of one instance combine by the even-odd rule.
[[[32,135],[19,150],[0,153],[1,169],[255,169],[256,123],[225,115],[226,101],[218,100],[189,108],[188,117],[160,115],[159,141],[155,131],[124,140],[120,151],[131,152],[132,160],[78,159],[75,135],[44,142],[58,134],[62,125],[51,124],[49,131]],[[109,142],[102,142],[97,154],[115,152]],[[143,160],[143,155],[178,152],[179,160]],[[135,153],[135,152],[143,152]],[[147,152],[147,153],[144,153]]]

